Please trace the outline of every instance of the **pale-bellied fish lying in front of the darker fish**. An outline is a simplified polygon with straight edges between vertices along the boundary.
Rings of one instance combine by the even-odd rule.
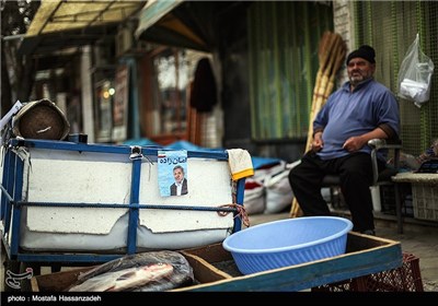
[[[106,272],[88,279],[83,283],[72,286],[70,292],[104,292],[128,291],[142,286],[151,281],[169,276],[173,266],[154,263],[143,267],[134,267],[116,272]]]

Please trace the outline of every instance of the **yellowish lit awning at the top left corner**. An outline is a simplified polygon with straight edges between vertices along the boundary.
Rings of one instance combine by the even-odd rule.
[[[147,1],[43,0],[20,46],[25,55],[47,55],[114,37],[117,26]],[[165,2],[165,1],[164,1]]]

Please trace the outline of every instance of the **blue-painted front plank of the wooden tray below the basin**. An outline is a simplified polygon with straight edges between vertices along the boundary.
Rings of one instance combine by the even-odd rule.
[[[301,291],[314,286],[358,278],[402,264],[401,246],[346,254],[214,283],[186,287],[186,291]]]

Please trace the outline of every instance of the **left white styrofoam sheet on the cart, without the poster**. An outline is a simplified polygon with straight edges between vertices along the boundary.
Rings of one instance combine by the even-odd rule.
[[[129,156],[31,149],[27,161],[23,191],[28,202],[129,202]],[[108,234],[127,211],[126,208],[28,207],[26,226],[47,233]]]

